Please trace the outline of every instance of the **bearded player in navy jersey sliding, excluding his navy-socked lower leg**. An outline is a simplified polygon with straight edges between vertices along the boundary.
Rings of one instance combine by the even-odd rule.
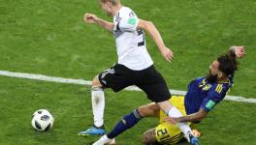
[[[185,96],[173,96],[170,102],[182,114],[183,117],[170,118],[165,115],[154,103],[139,108],[143,117],[155,116],[160,118],[160,125],[154,129],[144,132],[144,144],[157,145],[176,144],[183,137],[178,130],[176,123],[189,122],[190,127],[198,128],[198,124],[208,115],[213,107],[221,102],[228,90],[233,85],[233,77],[237,71],[237,58],[245,54],[243,46],[232,46],[225,55],[220,55],[209,66],[209,73],[206,77],[199,77],[191,81]],[[170,123],[164,123],[170,122]]]

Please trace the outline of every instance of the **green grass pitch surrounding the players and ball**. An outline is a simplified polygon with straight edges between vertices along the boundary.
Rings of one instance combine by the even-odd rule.
[[[230,45],[245,45],[230,95],[256,98],[256,2],[253,0],[123,0],[140,18],[151,20],[175,59],[167,63],[156,45],[147,48],[171,89],[186,90],[190,80],[208,73],[208,65]],[[86,25],[85,13],[107,20],[97,0],[0,0],[0,70],[42,73],[90,80],[116,62],[112,34]],[[148,103],[144,93],[106,92],[106,127]],[[32,113],[47,108],[53,129],[33,131]],[[252,145],[256,142],[255,103],[221,102],[201,124],[203,145]],[[0,76],[0,145],[84,145],[98,137],[80,137],[92,124],[90,87]],[[147,118],[116,138],[117,145],[140,145],[142,133],[157,125]]]

